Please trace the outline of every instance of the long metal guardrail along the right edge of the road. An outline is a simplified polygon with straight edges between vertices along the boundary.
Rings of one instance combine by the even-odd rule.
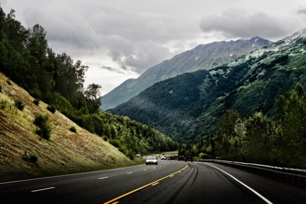
[[[220,164],[227,164],[236,167],[248,168],[261,173],[272,175],[274,177],[279,177],[293,183],[299,183],[306,185],[306,170],[305,169],[294,169],[285,167],[268,166],[262,164],[252,164],[244,162],[233,162],[233,161],[223,161],[223,160],[196,160],[198,162],[214,162]]]

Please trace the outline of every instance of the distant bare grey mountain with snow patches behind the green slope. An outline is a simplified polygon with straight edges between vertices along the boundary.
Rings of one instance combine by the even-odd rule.
[[[240,39],[198,45],[149,68],[137,79],[126,80],[100,98],[102,102],[100,108],[103,110],[115,108],[157,82],[182,73],[222,65],[271,43],[269,40],[254,37],[249,40]]]

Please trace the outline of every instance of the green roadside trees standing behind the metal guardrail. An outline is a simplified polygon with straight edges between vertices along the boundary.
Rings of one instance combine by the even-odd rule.
[[[217,133],[181,148],[200,158],[306,168],[306,92],[301,85],[276,101],[275,118],[262,112],[243,119],[227,110]]]

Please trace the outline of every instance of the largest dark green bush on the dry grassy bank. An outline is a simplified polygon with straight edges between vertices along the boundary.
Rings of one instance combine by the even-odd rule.
[[[39,127],[39,130],[37,130],[36,133],[46,140],[48,140],[51,135],[51,127],[48,121],[49,116],[43,114],[37,115],[34,119],[34,124]]]

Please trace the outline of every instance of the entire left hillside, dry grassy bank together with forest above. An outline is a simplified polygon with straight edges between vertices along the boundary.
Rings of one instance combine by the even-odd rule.
[[[83,171],[124,163],[136,154],[177,148],[169,137],[145,124],[101,111],[99,86],[84,87],[89,67],[66,53],[55,54],[45,36],[41,25],[26,29],[15,19],[14,10],[5,14],[0,8],[1,172],[24,174],[28,167],[32,172],[26,163],[31,152],[43,163],[36,170],[59,173],[63,164],[71,164],[63,167],[69,172]]]

